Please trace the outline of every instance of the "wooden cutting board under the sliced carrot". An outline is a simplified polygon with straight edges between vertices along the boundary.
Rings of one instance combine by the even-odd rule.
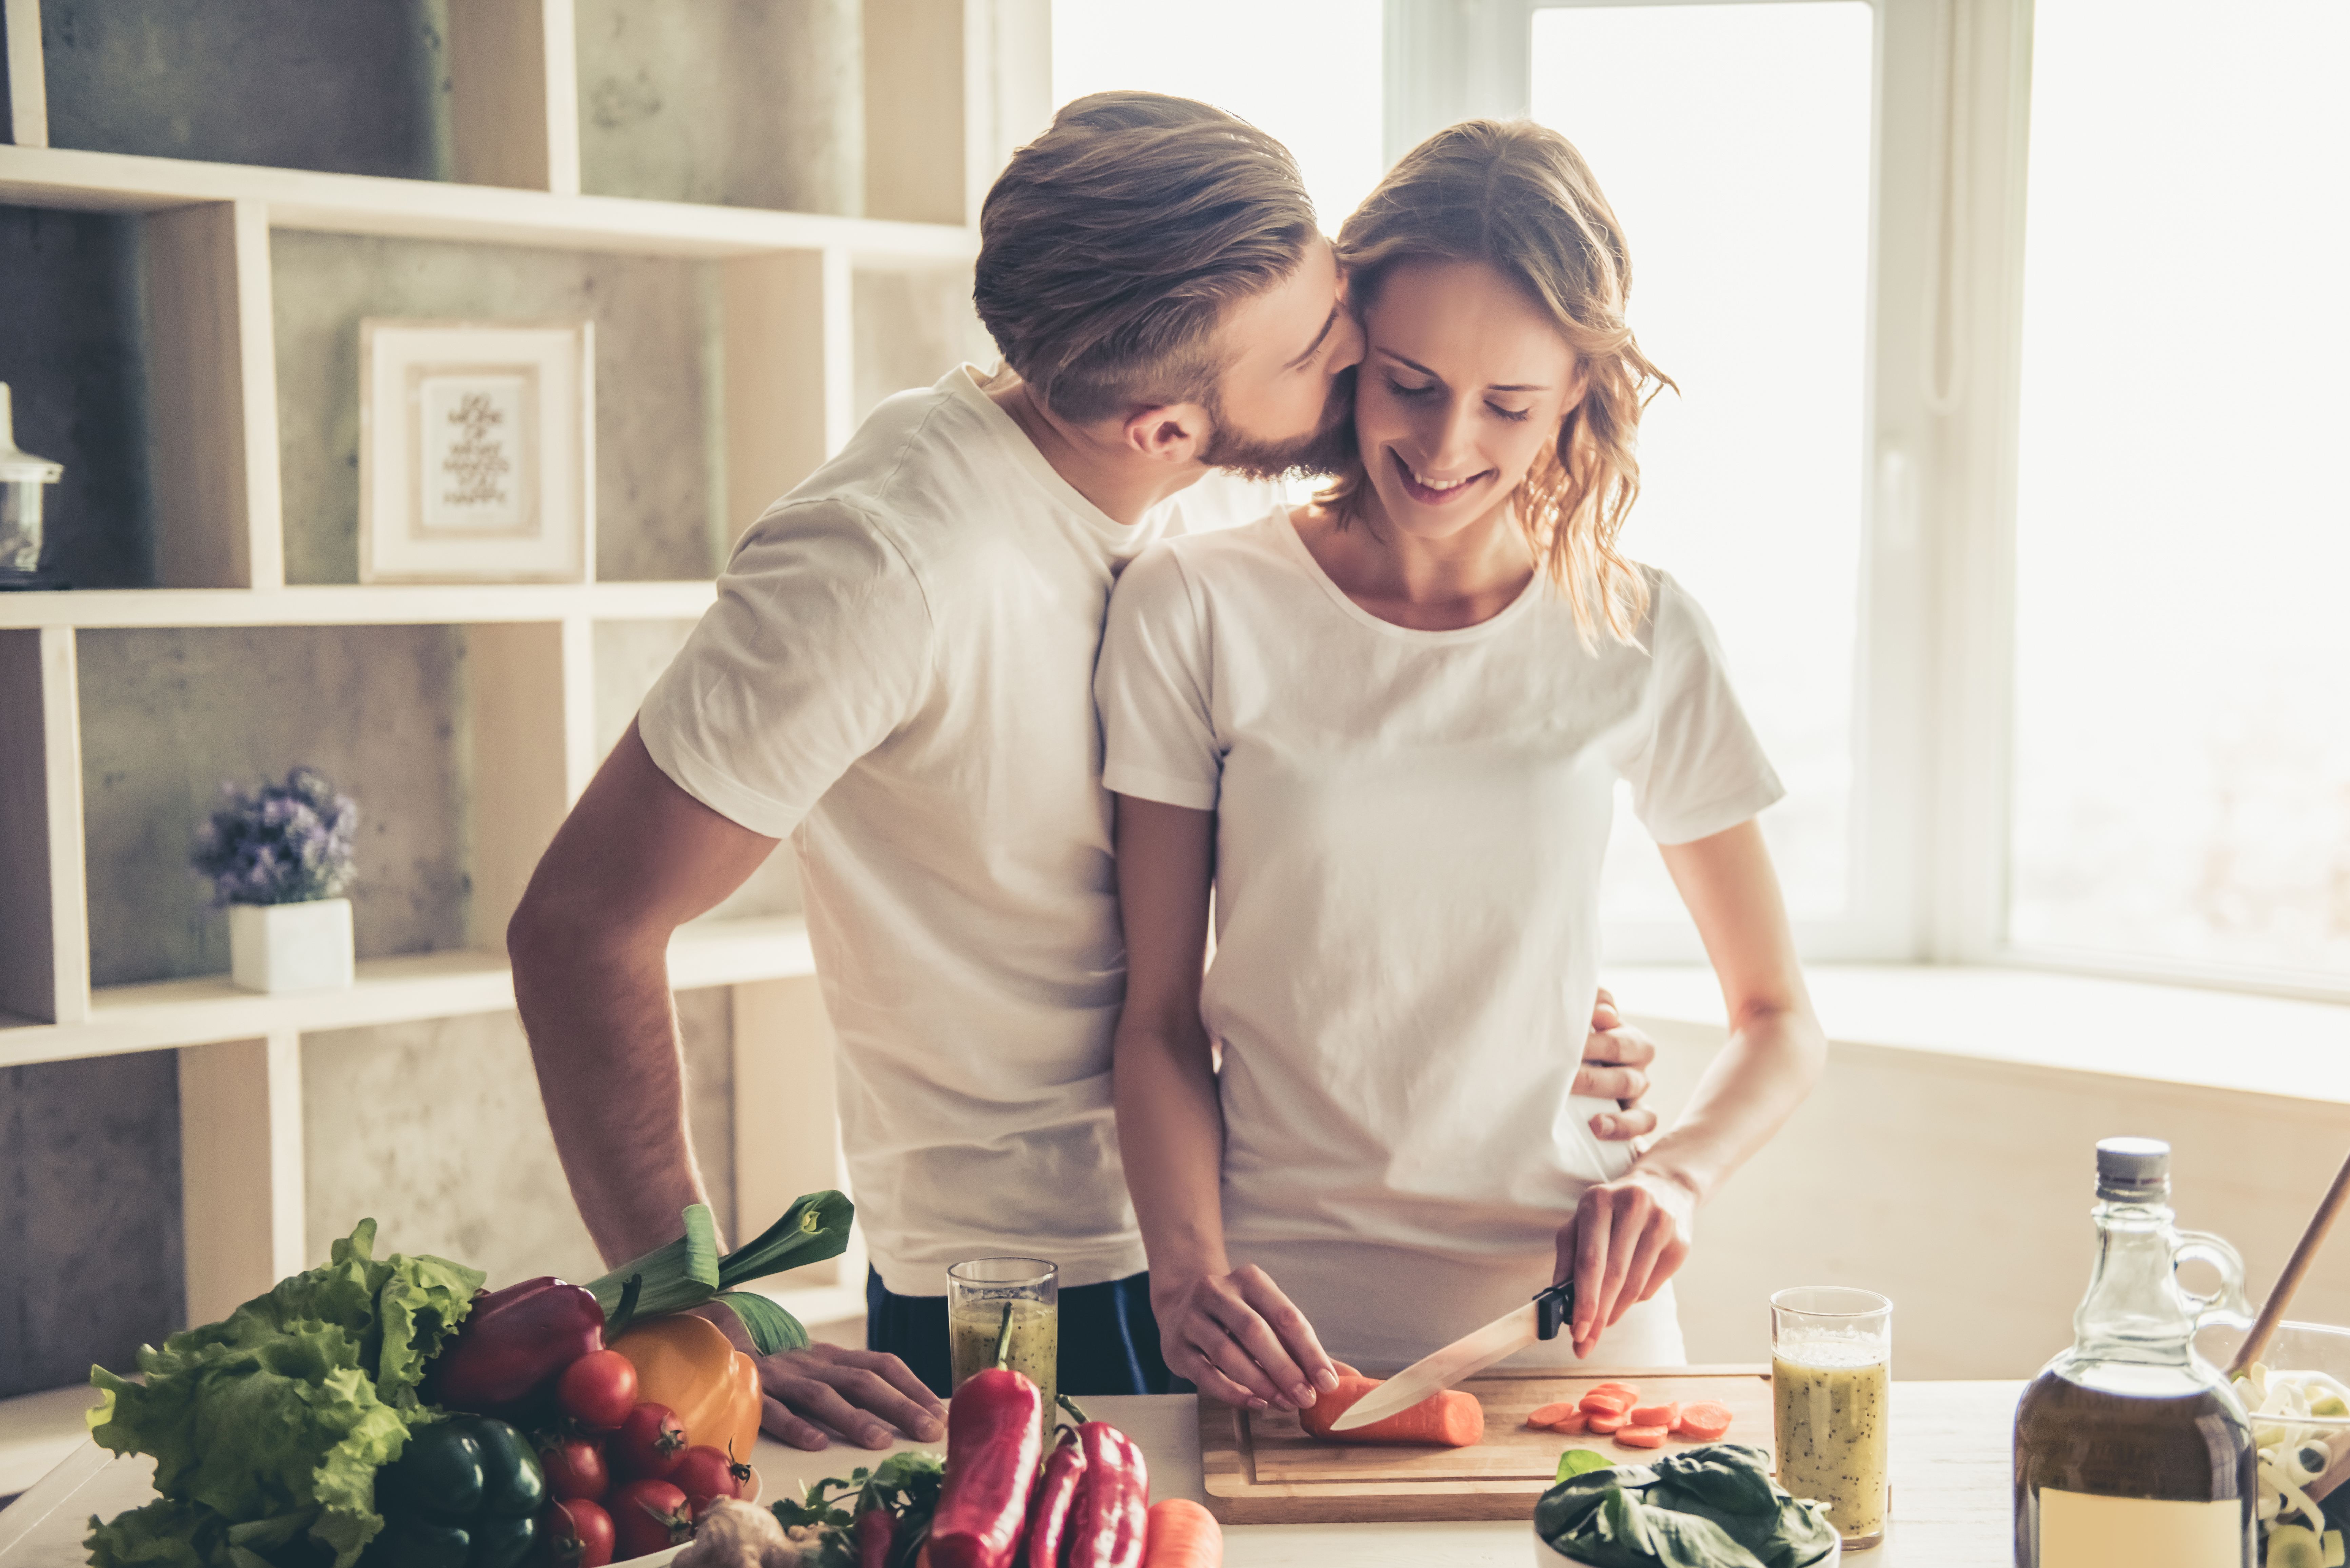
[[[1462,1392],[1485,1406],[1485,1441],[1473,1448],[1335,1443],[1304,1434],[1295,1410],[1238,1410],[1198,1401],[1201,1469],[1208,1512],[1224,1523],[1361,1523],[1396,1519],[1532,1519],[1551,1488],[1558,1455],[1591,1448],[1610,1465],[1640,1465],[1692,1443],[1624,1448],[1605,1436],[1560,1436],[1525,1425],[1530,1410],[1572,1403],[1598,1382],[1629,1382],[1640,1401],[1713,1399],[1730,1406],[1725,1443],[1772,1446],[1770,1368],[1673,1366],[1657,1371],[1492,1373]]]

